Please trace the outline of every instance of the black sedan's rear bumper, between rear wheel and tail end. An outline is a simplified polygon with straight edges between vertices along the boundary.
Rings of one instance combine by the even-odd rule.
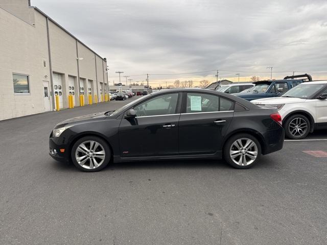
[[[264,137],[264,149],[262,154],[266,155],[272,152],[277,152],[283,149],[285,131],[282,127],[275,130],[270,130],[262,133]]]

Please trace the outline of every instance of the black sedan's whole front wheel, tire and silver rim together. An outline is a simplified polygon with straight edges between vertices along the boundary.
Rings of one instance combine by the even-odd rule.
[[[91,144],[93,145],[93,149],[90,148]],[[97,152],[101,152],[101,154],[96,155],[95,153]],[[71,157],[74,165],[78,169],[85,172],[96,172],[108,165],[111,158],[111,151],[108,143],[102,138],[85,136],[75,142]],[[77,159],[78,157],[80,158],[79,161]]]

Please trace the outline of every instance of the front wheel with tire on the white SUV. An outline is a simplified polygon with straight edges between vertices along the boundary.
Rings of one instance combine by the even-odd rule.
[[[310,120],[306,116],[295,114],[287,118],[283,128],[285,129],[286,137],[290,139],[303,139],[310,132]]]

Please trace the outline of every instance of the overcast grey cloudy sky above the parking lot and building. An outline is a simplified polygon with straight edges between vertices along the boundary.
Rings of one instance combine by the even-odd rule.
[[[32,0],[108,59],[109,81],[327,79],[327,1]],[[197,73],[192,73],[197,72]],[[158,76],[165,74],[162,76]],[[174,74],[174,75],[166,75]],[[179,75],[175,75],[179,74]],[[142,76],[135,76],[142,75]]]

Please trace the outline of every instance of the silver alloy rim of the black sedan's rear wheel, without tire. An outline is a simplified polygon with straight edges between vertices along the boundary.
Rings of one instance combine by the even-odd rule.
[[[241,138],[231,144],[229,155],[234,163],[246,166],[258,157],[258,146],[251,139]]]

